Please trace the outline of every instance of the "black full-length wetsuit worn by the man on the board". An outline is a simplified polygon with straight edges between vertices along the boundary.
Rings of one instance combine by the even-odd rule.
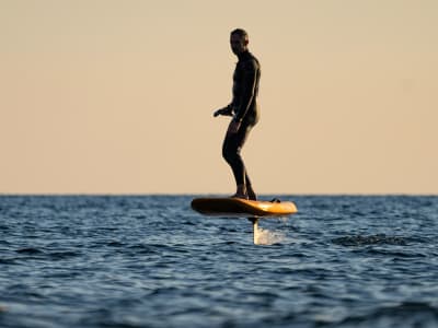
[[[222,147],[222,156],[231,166],[237,185],[251,185],[240,151],[251,129],[258,121],[256,97],[260,77],[258,60],[250,51],[239,55],[233,74],[233,98],[228,108],[234,114],[233,120],[241,125],[237,133],[227,133]]]

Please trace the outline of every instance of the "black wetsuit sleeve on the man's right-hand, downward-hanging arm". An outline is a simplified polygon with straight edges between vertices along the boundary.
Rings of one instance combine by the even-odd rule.
[[[234,120],[242,121],[254,98],[258,66],[255,60],[247,60],[243,67],[242,94],[240,106],[235,108]]]

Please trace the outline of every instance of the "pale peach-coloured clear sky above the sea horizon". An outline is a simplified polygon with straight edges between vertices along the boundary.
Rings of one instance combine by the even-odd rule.
[[[242,27],[260,194],[438,194],[438,1],[0,0],[0,194],[233,194]]]

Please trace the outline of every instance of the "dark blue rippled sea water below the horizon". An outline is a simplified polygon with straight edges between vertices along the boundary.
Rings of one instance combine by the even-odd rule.
[[[438,197],[192,198],[0,197],[0,327],[438,327]]]

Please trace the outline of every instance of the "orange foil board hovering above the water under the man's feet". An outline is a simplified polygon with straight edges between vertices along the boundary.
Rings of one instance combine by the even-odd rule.
[[[291,201],[258,201],[241,198],[195,198],[192,201],[195,211],[215,216],[285,216],[297,213]]]

